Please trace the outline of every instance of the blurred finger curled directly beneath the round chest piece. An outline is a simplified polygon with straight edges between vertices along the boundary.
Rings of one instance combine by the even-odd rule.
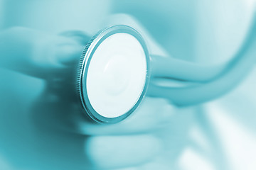
[[[79,112],[80,110],[78,110]],[[149,132],[169,125],[176,108],[161,98],[144,98],[126,120],[112,125],[90,123],[81,114],[73,114],[75,130],[86,135],[119,135]],[[70,119],[71,120],[71,119]]]

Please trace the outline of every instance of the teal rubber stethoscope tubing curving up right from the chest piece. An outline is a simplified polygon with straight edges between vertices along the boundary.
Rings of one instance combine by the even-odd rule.
[[[256,15],[253,18],[250,30],[244,43],[236,53],[233,60],[223,66],[198,67],[196,64],[181,62],[151,55],[152,75],[147,91],[148,96],[160,96],[169,99],[177,106],[190,106],[213,100],[226,94],[237,86],[256,62]],[[159,60],[159,62],[157,62]],[[172,69],[171,67],[174,67]],[[166,72],[164,72],[166,70]],[[171,72],[172,71],[172,72]],[[154,84],[152,79],[167,77],[182,81],[201,82],[185,87],[169,87]]]

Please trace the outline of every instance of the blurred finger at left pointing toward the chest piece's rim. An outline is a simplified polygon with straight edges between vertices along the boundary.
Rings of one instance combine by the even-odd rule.
[[[83,45],[73,38],[9,28],[0,33],[0,67],[45,79],[67,69],[70,61],[80,58],[82,49]]]

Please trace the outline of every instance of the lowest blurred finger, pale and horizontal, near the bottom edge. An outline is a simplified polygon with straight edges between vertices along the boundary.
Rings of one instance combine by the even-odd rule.
[[[151,135],[90,137],[85,152],[91,164],[100,169],[137,166],[150,162],[161,150]]]

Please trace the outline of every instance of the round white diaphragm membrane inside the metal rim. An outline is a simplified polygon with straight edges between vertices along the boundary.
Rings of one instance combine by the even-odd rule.
[[[86,89],[92,108],[105,118],[130,111],[146,82],[146,54],[137,38],[115,33],[103,40],[90,60]]]

